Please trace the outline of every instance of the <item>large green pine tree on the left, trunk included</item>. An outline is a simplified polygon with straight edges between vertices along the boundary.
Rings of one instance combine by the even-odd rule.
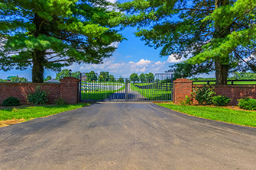
[[[113,42],[123,40],[106,0],[3,0],[0,2],[0,69],[27,69],[44,82],[44,69],[60,72],[73,63],[102,63]]]

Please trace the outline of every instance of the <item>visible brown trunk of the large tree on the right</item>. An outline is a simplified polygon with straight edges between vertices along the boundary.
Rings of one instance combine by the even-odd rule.
[[[215,0],[215,8],[219,8],[219,6],[227,5],[229,0]],[[218,23],[215,23],[215,38],[225,37],[228,33],[230,33],[229,27],[222,31],[220,34],[221,27]],[[228,70],[229,66],[223,64],[225,60],[228,61],[228,56],[226,59],[220,59],[219,57],[215,59],[215,77],[216,77],[216,85],[227,85],[228,82]]]

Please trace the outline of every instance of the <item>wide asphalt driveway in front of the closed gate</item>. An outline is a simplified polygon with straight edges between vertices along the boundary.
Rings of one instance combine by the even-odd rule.
[[[256,129],[146,103],[99,103],[0,128],[0,169],[255,169]]]

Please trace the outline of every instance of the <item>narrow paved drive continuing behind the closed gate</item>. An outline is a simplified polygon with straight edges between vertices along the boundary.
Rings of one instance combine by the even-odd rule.
[[[141,93],[139,93],[138,91],[133,91],[131,90],[131,83],[128,83],[127,85],[128,88],[128,100],[129,101],[146,101],[149,100],[147,98],[144,98],[143,95],[141,95]],[[125,101],[125,89],[122,91],[117,91],[116,93],[114,93],[113,95],[110,95],[109,98],[107,98],[107,101]]]

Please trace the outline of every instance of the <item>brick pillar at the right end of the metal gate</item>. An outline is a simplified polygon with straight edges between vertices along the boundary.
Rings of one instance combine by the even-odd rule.
[[[186,95],[191,98],[193,81],[189,79],[176,79],[173,82],[173,103],[180,104],[186,99]]]

